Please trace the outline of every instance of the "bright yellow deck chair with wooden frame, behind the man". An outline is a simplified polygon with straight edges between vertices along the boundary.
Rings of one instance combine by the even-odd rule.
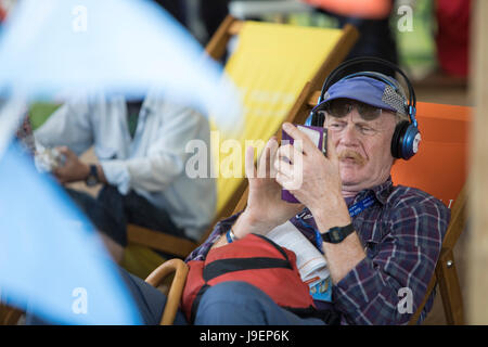
[[[220,60],[232,37],[237,38],[235,51],[226,64],[226,72],[242,93],[245,120],[237,141],[268,140],[285,120],[295,121],[310,93],[322,85],[325,76],[341,63],[358,36],[352,26],[344,29],[296,27],[284,24],[242,22],[228,16],[206,47],[207,53]],[[219,130],[210,121],[211,130]],[[211,139],[217,170],[230,155],[220,153],[220,144],[228,140]],[[214,141],[215,140],[215,141]],[[264,146],[264,143],[262,143]],[[259,151],[262,147],[259,149]],[[242,153],[243,154],[243,153]],[[247,180],[224,178],[217,180],[217,207],[214,222],[197,242],[175,237],[134,224],[128,226],[129,245],[123,267],[145,278],[164,259],[153,250],[185,257],[209,235],[216,221],[230,216],[242,196]]]

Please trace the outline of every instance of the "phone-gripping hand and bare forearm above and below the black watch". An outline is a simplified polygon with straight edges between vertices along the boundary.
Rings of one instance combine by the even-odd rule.
[[[293,125],[284,124],[283,129],[295,139],[295,142],[293,146],[282,146],[278,151],[274,162],[278,169],[277,182],[288,189],[310,209],[321,232],[326,232],[332,227],[349,224],[351,220],[342,195],[339,160],[332,137],[328,137],[328,157],[325,157],[313,142]],[[301,168],[294,167],[300,162]],[[298,188],[293,187],[296,181],[293,175],[297,174],[301,175],[299,178],[301,184]],[[325,242],[322,246],[335,284],[365,258],[357,233],[349,234],[339,244]]]

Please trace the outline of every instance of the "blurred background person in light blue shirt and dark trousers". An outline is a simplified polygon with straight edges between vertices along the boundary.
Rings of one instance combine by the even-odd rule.
[[[196,139],[208,144],[209,136],[204,116],[154,91],[143,101],[81,97],[35,131],[38,147],[56,147],[64,155],[64,165],[53,170],[61,183],[103,185],[97,198],[67,191],[102,231],[116,260],[127,245],[127,223],[201,237],[214,217],[216,188],[210,178],[185,175],[185,145]],[[99,163],[81,162],[78,156],[92,145]]]

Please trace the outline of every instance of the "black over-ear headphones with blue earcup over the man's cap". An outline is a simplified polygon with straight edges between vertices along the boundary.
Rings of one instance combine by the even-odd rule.
[[[375,63],[378,65],[389,67],[389,68],[398,72],[407,82],[407,87],[409,89],[409,100],[408,100],[408,102],[407,102],[407,100],[403,101],[403,106],[404,106],[406,114],[410,118],[410,121],[402,120],[396,126],[394,136],[391,138],[391,155],[395,158],[401,158],[401,159],[408,160],[418,152],[419,143],[421,141],[421,134],[420,134],[418,123],[415,119],[415,113],[416,113],[415,92],[414,92],[412,83],[410,82],[407,75],[397,65],[395,65],[388,61],[385,61],[383,59],[373,57],[373,56],[356,57],[356,59],[351,59],[349,61],[342,63],[329,75],[329,77],[323,82],[322,91],[320,93],[320,98],[317,103],[317,106],[320,105],[324,101],[325,93],[332,85],[334,85],[337,81],[350,79],[350,78],[358,77],[358,76],[364,76],[364,77],[370,77],[370,78],[380,80],[380,81],[386,83],[387,86],[390,86],[395,90],[395,92],[402,95],[402,93],[400,92],[400,86],[398,83],[396,83],[396,80],[393,80],[393,79],[390,80],[390,79],[386,78],[385,75],[377,73],[377,72],[359,72],[359,73],[349,74],[346,77],[339,78],[339,76],[341,76],[339,74],[344,73],[346,68],[349,68],[350,66],[354,66],[354,65],[364,64],[364,63]],[[317,108],[318,108],[317,106],[314,106],[312,108],[312,111],[310,112],[310,115],[308,116],[305,125],[323,127],[325,116],[323,115],[323,113],[319,113],[317,111]]]

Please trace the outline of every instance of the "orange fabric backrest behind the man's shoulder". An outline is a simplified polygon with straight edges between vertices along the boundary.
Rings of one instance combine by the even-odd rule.
[[[423,102],[416,108],[422,134],[419,153],[395,163],[393,181],[419,188],[451,207],[467,177],[472,108]]]

